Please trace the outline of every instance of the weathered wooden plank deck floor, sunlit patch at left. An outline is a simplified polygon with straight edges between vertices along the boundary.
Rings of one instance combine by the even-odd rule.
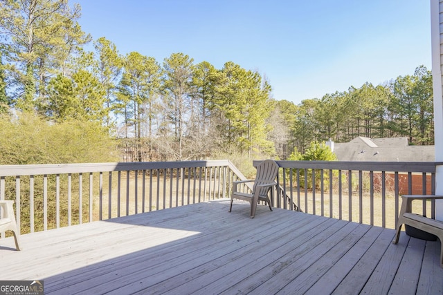
[[[442,294],[440,241],[213,201],[0,240],[0,280],[45,294]]]

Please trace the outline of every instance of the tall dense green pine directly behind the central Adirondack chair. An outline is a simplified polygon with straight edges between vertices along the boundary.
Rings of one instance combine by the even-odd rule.
[[[266,118],[271,111],[271,86],[262,77],[233,62],[224,64],[215,105],[225,120],[219,124],[221,148],[250,155],[253,151],[273,150],[266,140]]]

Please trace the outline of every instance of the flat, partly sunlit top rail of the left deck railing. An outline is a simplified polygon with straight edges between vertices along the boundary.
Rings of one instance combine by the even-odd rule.
[[[233,166],[229,160],[176,161],[176,162],[109,162],[78,164],[0,165],[0,177],[21,175],[46,175],[90,173],[109,171],[134,171],[150,169],[197,168]]]

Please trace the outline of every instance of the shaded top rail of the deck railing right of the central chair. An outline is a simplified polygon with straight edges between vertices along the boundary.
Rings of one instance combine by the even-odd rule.
[[[257,166],[261,160],[254,160]],[[354,171],[401,171],[435,173],[435,166],[442,162],[338,162],[338,161],[275,161],[282,168],[333,169]]]

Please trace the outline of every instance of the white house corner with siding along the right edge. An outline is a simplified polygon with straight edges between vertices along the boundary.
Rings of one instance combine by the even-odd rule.
[[[434,92],[435,161],[443,162],[443,0],[431,0],[432,74]],[[443,165],[437,166],[435,193],[443,195]],[[435,206],[435,218],[443,220],[443,202]]]

